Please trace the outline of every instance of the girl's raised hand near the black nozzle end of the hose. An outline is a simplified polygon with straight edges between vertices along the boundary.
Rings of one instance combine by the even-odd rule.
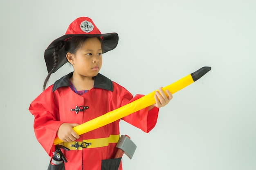
[[[170,102],[170,100],[173,98],[173,95],[168,90],[166,90],[165,92],[167,93],[168,97],[164,93],[162,87],[159,88],[159,91],[155,92],[155,104],[153,104],[153,106],[160,108]]]

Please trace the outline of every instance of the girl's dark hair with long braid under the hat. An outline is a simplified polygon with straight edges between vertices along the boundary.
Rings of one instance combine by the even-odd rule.
[[[45,87],[46,87],[46,84],[47,82],[49,81],[49,78],[52,74],[52,72],[54,71],[54,69],[56,68],[56,66],[58,66],[58,60],[59,60],[59,55],[58,55],[58,52],[61,48],[65,48],[65,56],[62,56],[62,57],[65,57],[66,58],[66,54],[67,53],[72,53],[72,54],[75,54],[76,51],[78,49],[80,49],[83,44],[86,42],[86,40],[88,39],[89,37],[84,37],[84,36],[75,36],[75,37],[72,37],[68,40],[65,40],[65,41],[61,41],[58,45],[55,46],[54,48],[54,52],[52,54],[53,56],[53,59],[54,59],[54,64],[53,64],[53,68],[52,70],[48,73],[48,75],[46,76],[45,78],[45,82],[43,84],[43,90],[45,90]],[[101,46],[102,46],[102,40],[101,38],[98,38],[101,42]],[[66,59],[67,60],[67,59]]]

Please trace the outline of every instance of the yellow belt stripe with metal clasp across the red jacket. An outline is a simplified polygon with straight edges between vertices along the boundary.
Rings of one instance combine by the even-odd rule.
[[[86,139],[83,141],[63,142],[62,145],[70,150],[83,150],[86,148],[99,148],[108,146],[110,143],[117,143],[120,135],[110,135],[109,137],[98,139]]]

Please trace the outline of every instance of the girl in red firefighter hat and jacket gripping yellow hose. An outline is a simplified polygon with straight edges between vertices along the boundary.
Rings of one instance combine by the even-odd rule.
[[[45,50],[49,74],[43,93],[31,103],[29,111],[35,117],[36,138],[49,156],[52,157],[55,151],[53,141],[56,137],[63,141],[62,146],[70,149],[61,149],[67,159],[65,170],[102,170],[116,161],[112,158],[117,152],[120,120],[80,136],[72,128],[143,96],[132,97],[124,87],[99,73],[102,53],[115,49],[117,43],[117,33],[101,34],[90,18],[81,17]],[[66,62],[72,64],[74,71],[45,89],[50,75]],[[155,94],[154,105],[123,120],[149,132],[156,124],[159,108],[172,98],[169,91],[166,93],[168,97],[160,88]],[[119,162],[119,170],[122,170]],[[54,167],[50,164],[49,169]]]

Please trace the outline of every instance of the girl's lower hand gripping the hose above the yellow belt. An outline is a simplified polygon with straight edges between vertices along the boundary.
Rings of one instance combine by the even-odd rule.
[[[75,141],[79,138],[79,135],[73,130],[73,128],[78,125],[79,124],[61,124],[57,131],[58,138],[64,142]]]

